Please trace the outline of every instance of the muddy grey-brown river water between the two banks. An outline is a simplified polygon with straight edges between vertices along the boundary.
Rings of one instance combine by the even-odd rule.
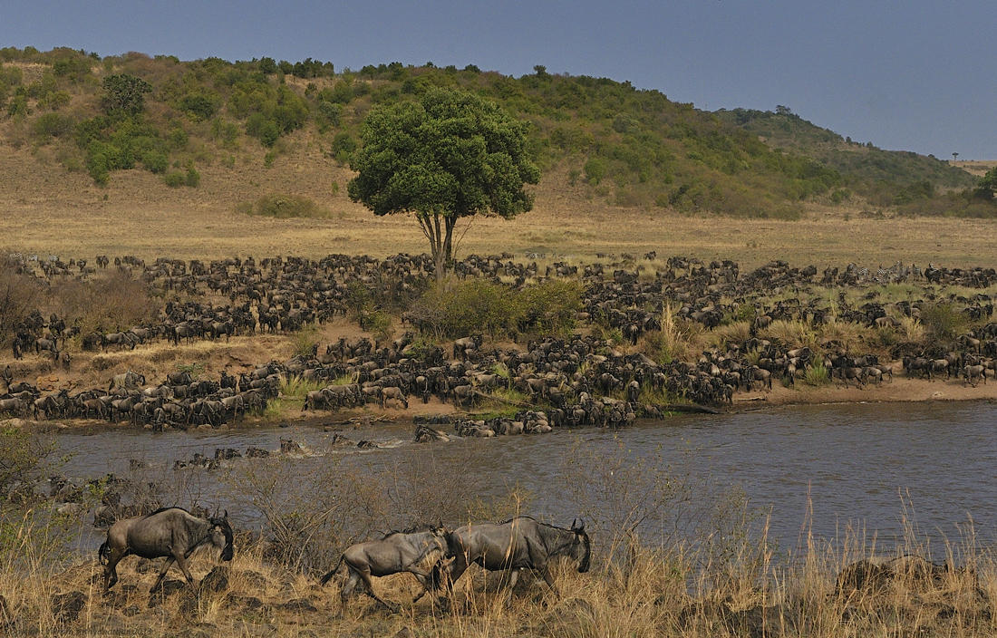
[[[927,537],[958,541],[960,525],[971,518],[981,542],[997,540],[994,403],[797,406],[678,416],[615,432],[585,429],[434,444],[412,443],[412,432],[412,424],[404,423],[343,430],[354,441],[382,446],[368,451],[351,446],[325,452],[334,434],[306,426],[62,434],[58,445],[60,454],[71,455],[65,474],[75,478],[124,474],[133,459],[146,460],[168,476],[173,460],[188,460],[195,453],[212,457],[216,448],[277,451],[281,439],[313,451],[290,466],[302,479],[315,471],[314,464],[327,463],[326,455],[345,462],[344,471],[374,474],[413,455],[432,456],[453,469],[454,479],[475,481],[485,496],[517,483],[535,494],[534,509],[568,519],[571,503],[553,487],[565,455],[580,445],[597,458],[622,446],[633,459],[675,463],[694,475],[743,489],[752,506],[771,511],[770,535],[784,546],[796,546],[811,509],[814,533],[826,538],[840,536],[851,524],[889,543],[902,536],[905,521],[912,521]],[[203,500],[220,502],[238,516],[225,502],[223,488],[212,483],[211,473],[203,476]]]

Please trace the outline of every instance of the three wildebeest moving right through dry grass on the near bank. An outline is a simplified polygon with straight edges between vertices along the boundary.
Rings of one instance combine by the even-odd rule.
[[[200,517],[181,507],[163,507],[118,520],[108,529],[107,539],[97,552],[99,561],[105,565],[104,590],[118,582],[118,563],[129,555],[166,557],[153,592],[173,562],[193,585],[186,560],[202,546],[219,549],[221,560],[232,559],[233,532],[227,511],[222,516]],[[433,594],[444,587],[452,591],[454,582],[475,563],[490,571],[508,571],[510,588],[519,572],[529,569],[556,592],[549,563],[558,556],[576,562],[579,572],[588,571],[591,541],[583,522],[576,519],[570,528],[563,528],[531,516],[516,516],[501,523],[468,524],[454,530],[441,524],[392,531],[381,538],[350,545],[319,582],[326,584],[345,565],[349,575],[340,591],[344,606],[359,585],[379,603],[396,608],[374,593],[372,576],[413,574],[424,587],[415,602],[426,592]]]

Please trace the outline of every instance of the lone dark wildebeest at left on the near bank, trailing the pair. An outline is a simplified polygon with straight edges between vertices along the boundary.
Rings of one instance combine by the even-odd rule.
[[[118,582],[118,562],[129,554],[143,558],[166,556],[160,577],[150,591],[160,586],[174,560],[193,585],[186,559],[195,549],[207,545],[220,549],[222,560],[232,559],[232,527],[227,511],[220,518],[199,518],[182,507],[164,507],[145,516],[119,520],[108,529],[107,540],[97,550],[101,562],[107,561],[104,590]]]

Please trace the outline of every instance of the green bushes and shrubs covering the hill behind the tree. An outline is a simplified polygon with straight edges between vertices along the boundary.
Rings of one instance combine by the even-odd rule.
[[[416,100],[432,87],[473,91],[527,121],[541,169],[558,167],[610,205],[796,218],[808,200],[854,195],[894,205],[972,183],[938,160],[836,142],[796,116],[711,114],[628,82],[539,66],[520,78],[432,63],[337,72],[311,59],[181,62],[31,47],[0,49],[0,64],[0,142],[46,148],[99,184],[143,168],[170,186],[197,187],[198,167],[234,166],[249,148],[265,150],[269,166],[292,139],[300,143],[296,132],[345,164],[372,106]]]

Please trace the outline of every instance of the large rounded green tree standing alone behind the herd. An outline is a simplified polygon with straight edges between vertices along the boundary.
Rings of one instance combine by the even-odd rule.
[[[479,96],[443,89],[375,109],[350,160],[350,198],[378,215],[413,213],[441,276],[462,217],[508,219],[532,207],[523,186],[540,171],[526,149],[528,126]]]

